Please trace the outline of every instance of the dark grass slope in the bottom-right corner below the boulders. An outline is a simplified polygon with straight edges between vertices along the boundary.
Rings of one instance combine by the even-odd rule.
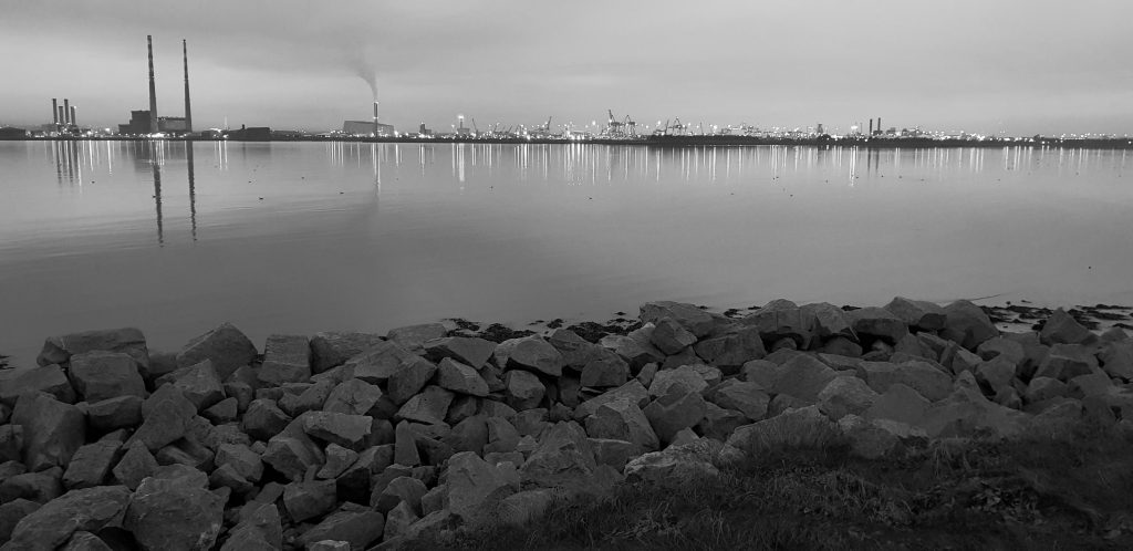
[[[835,442],[409,549],[1133,549],[1131,497],[1133,441],[1100,429],[925,442],[879,460]]]

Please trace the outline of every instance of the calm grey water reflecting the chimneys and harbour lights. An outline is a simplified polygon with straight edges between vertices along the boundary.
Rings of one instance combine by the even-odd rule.
[[[0,142],[0,353],[645,300],[1133,304],[1133,153]]]

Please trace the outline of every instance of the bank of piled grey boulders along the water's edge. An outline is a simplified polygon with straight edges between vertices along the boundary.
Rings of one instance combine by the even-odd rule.
[[[451,544],[782,449],[1133,438],[1133,339],[1082,314],[657,302],[542,333],[453,321],[261,349],[225,323],[177,353],[137,329],[51,337],[37,367],[0,372],[0,550]]]

